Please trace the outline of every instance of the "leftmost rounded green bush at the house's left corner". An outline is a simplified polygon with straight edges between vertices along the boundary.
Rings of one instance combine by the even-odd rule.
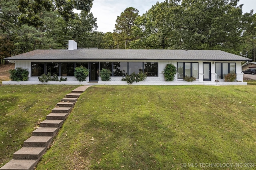
[[[12,81],[28,81],[28,69],[17,67],[16,69],[9,70],[9,73]]]

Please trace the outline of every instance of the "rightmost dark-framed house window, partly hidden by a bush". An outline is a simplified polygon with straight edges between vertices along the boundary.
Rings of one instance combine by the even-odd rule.
[[[236,73],[236,63],[215,63],[218,79],[225,79],[228,73]]]

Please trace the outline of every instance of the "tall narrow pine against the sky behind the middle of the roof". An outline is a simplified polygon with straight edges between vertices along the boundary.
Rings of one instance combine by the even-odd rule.
[[[114,40],[118,45],[123,45],[124,49],[129,46],[129,42],[135,40],[136,37],[132,34],[132,27],[134,26],[134,20],[139,16],[139,11],[133,7],[126,8],[121,15],[117,17]]]

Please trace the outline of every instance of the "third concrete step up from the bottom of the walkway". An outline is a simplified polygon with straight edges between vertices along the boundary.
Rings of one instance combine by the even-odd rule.
[[[23,147],[48,147],[52,141],[52,136],[31,136],[24,141]]]

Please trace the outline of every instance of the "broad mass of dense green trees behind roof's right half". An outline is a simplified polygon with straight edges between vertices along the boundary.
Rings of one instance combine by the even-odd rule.
[[[221,49],[238,53],[242,6],[237,0],[166,0],[135,21],[132,47]]]

